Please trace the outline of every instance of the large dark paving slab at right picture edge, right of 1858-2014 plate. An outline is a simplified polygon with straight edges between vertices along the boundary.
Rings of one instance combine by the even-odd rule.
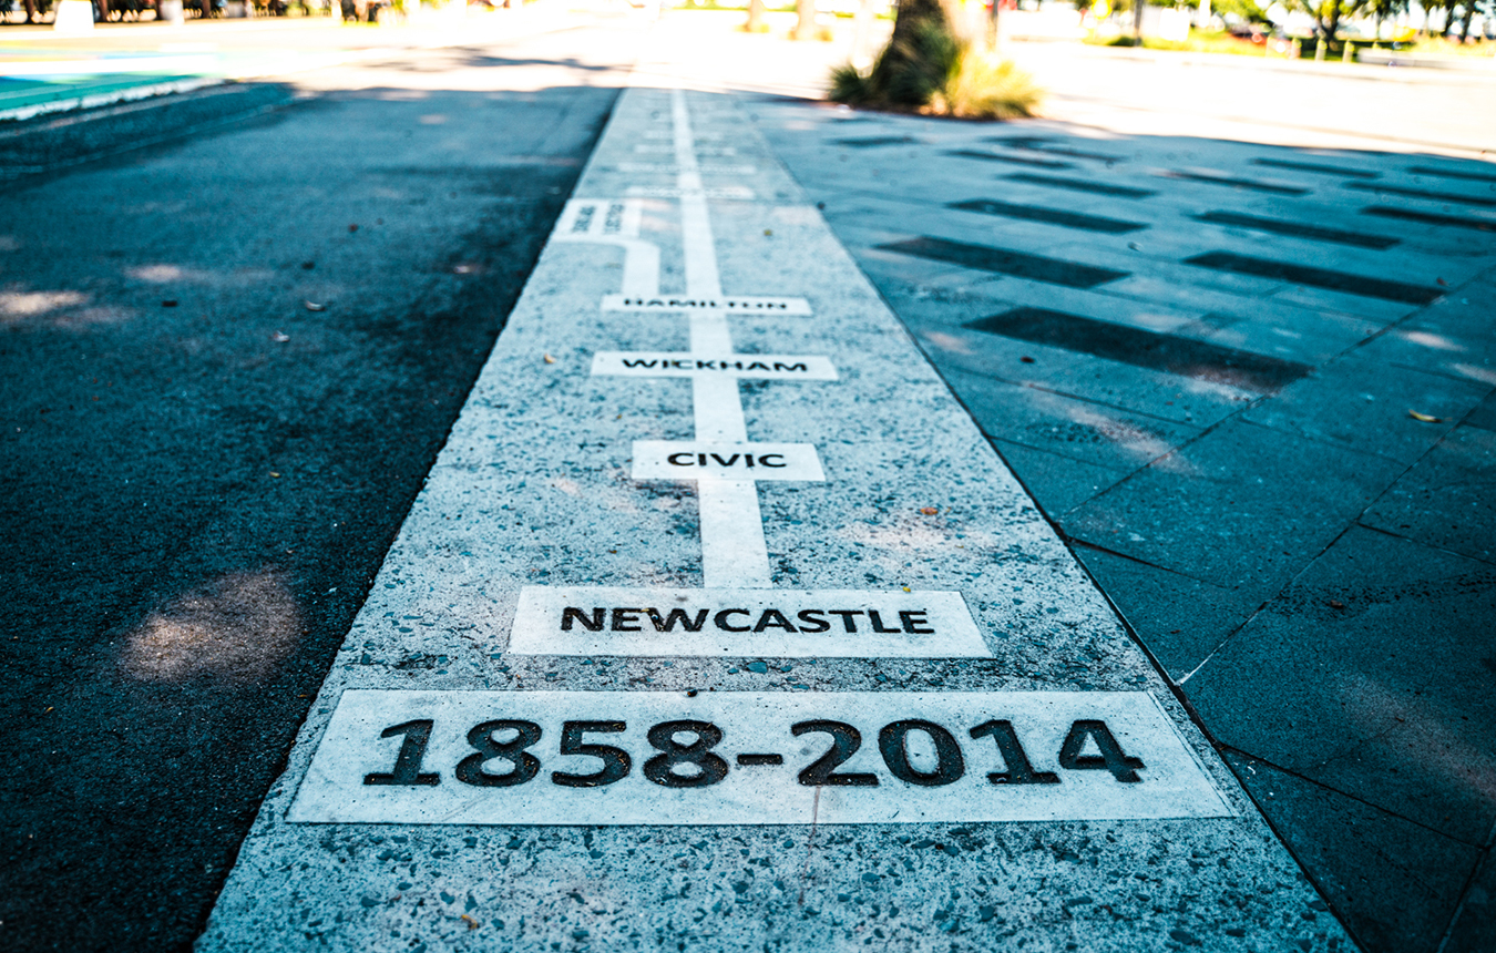
[[[1496,567],[1352,527],[1185,691],[1212,733],[1465,844],[1496,823]]]

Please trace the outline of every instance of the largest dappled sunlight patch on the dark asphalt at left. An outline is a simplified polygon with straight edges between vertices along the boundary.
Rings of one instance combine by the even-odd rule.
[[[301,610],[280,573],[229,573],[147,616],[129,634],[120,667],[153,682],[259,682],[301,636]]]

